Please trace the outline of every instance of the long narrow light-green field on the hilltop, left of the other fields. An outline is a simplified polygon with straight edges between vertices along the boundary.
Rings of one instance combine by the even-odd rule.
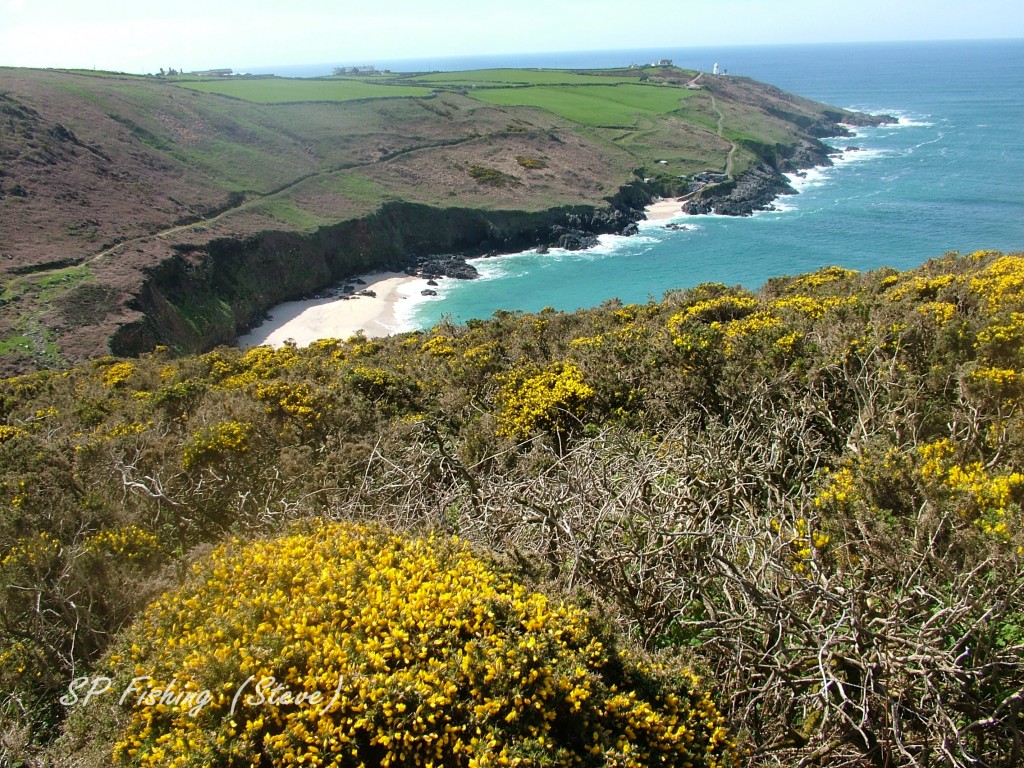
[[[265,104],[294,101],[351,101],[357,98],[424,96],[429,93],[426,87],[367,83],[347,79],[220,79],[185,82],[180,85],[204,93],[219,93],[222,96]]]

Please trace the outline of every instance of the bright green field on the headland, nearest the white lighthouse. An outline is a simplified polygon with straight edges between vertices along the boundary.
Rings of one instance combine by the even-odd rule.
[[[633,126],[637,118],[668,115],[695,91],[658,85],[488,88],[474,98],[502,106],[537,106],[592,126]]]

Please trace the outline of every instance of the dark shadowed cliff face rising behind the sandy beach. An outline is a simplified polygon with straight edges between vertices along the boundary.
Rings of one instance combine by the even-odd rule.
[[[392,203],[312,234],[269,231],[182,249],[147,270],[131,302],[141,316],[118,329],[111,351],[130,356],[163,344],[187,353],[229,344],[275,304],[359,273],[412,272],[436,263],[428,258],[434,254],[513,253],[565,238],[585,243],[590,236],[629,231],[650,199],[642,187],[627,186],[604,209],[484,211]]]

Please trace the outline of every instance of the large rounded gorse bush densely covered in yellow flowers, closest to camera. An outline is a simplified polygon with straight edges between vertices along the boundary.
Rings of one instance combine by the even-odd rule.
[[[126,697],[119,765],[732,759],[691,674],[617,650],[583,610],[496,573],[457,541],[324,524],[234,542],[152,604],[109,663],[123,686],[145,676],[145,690],[173,691]]]

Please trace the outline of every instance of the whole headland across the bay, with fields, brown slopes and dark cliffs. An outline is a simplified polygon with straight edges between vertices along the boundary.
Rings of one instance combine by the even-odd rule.
[[[276,78],[4,77],[4,373],[230,343],[359,272],[587,248],[654,197],[746,214],[873,120],[673,67],[340,80],[327,100]]]

